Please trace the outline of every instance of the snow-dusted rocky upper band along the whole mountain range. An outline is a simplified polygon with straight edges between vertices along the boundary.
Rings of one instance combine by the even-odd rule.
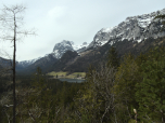
[[[102,46],[106,43],[113,45],[117,41],[131,40],[141,42],[148,38],[155,39],[158,37],[164,37],[165,31],[160,31],[163,26],[162,20],[154,19],[154,17],[158,14],[165,14],[165,9],[150,14],[130,16],[115,27],[102,28],[97,32],[93,41],[90,44],[85,42],[77,45],[73,41],[63,40],[54,45],[52,53],[31,60],[20,62],[18,65],[27,67],[40,58],[51,59],[53,57],[60,59],[67,51],[76,51],[81,53],[90,47]]]

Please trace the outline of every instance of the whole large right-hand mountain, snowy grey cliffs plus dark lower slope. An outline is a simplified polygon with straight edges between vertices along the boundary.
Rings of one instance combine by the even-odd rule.
[[[71,65],[61,67],[63,71],[87,71],[90,64],[97,66],[101,60],[106,60],[111,46],[115,46],[118,57],[126,53],[135,55],[144,53],[154,46],[165,45],[165,29],[160,19],[154,19],[157,14],[165,14],[165,9],[138,16],[127,17],[113,28],[102,28],[93,41],[75,57]],[[58,70],[55,64],[52,70]],[[60,68],[59,68],[60,69]]]

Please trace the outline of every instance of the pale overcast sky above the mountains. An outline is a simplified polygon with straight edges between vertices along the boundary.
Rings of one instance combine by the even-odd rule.
[[[90,43],[102,28],[114,27],[128,16],[165,8],[165,0],[0,0],[0,9],[26,6],[23,29],[35,28],[37,36],[16,42],[16,60],[42,57],[62,40]],[[1,10],[0,10],[1,13]],[[0,57],[11,57],[13,43],[0,39]]]

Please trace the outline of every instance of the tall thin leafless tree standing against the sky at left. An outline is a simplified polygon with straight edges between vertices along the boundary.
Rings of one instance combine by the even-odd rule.
[[[3,5],[1,9],[0,23],[1,23],[1,40],[11,41],[13,43],[13,62],[12,62],[12,72],[13,72],[13,123],[15,123],[15,108],[16,108],[16,97],[15,97],[15,58],[16,58],[16,42],[23,37],[28,35],[36,35],[34,30],[23,29],[24,16],[26,8],[24,5]]]

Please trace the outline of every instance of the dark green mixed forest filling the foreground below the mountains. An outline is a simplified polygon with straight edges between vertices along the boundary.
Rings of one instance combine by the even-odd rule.
[[[40,68],[33,77],[17,77],[16,122],[165,122],[165,47],[138,56],[128,53],[122,59],[113,47],[107,57],[88,69],[84,83],[49,79]],[[1,77],[0,84],[0,122],[9,123],[11,81]]]

